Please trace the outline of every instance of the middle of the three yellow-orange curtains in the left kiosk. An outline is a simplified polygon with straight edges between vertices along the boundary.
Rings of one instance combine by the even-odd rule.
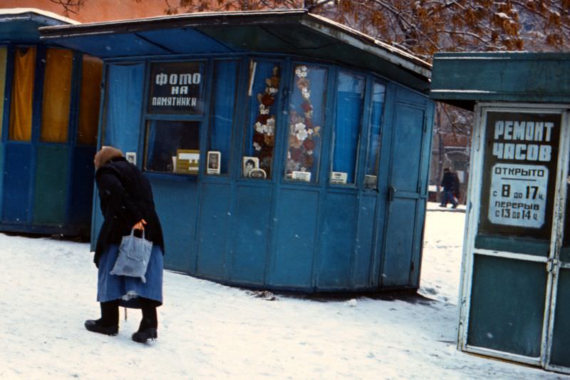
[[[47,49],[40,133],[40,140],[44,143],[65,143],[67,141],[72,68],[73,53],[71,51]]]

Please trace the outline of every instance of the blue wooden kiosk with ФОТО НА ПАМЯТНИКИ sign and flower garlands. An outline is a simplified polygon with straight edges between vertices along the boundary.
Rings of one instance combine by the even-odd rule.
[[[300,292],[418,288],[428,63],[304,10],[41,34],[105,62],[100,144],[150,179],[167,268]]]

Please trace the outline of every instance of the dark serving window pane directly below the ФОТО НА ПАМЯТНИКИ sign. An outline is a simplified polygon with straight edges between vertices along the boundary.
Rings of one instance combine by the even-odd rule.
[[[197,174],[199,126],[197,121],[149,121],[145,170]]]

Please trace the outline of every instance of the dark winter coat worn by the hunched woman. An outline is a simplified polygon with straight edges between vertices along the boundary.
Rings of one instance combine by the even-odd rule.
[[[95,182],[105,217],[95,247],[95,265],[107,245],[120,244],[123,236],[130,235],[133,225],[141,219],[147,222],[145,238],[160,245],[164,252],[162,227],[152,200],[152,189],[139,168],[123,157],[113,158],[97,170]]]

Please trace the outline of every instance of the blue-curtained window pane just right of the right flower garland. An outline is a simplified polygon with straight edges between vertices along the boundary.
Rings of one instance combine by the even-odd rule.
[[[364,76],[338,74],[331,183],[354,183],[364,88]]]

